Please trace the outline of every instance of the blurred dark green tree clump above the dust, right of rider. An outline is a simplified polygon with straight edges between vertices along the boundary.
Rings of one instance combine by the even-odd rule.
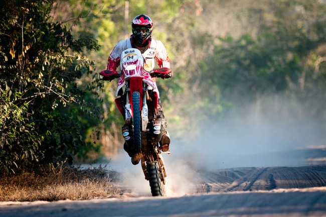
[[[284,91],[289,82],[298,79],[301,68],[296,55],[288,58],[269,34],[261,35],[256,41],[249,35],[221,41],[222,45],[202,65],[205,77],[219,85],[224,97]]]

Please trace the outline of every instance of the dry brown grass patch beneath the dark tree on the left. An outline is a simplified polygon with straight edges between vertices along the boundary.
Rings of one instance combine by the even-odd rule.
[[[0,178],[0,201],[54,201],[116,196],[112,174],[101,166],[93,169],[50,165],[33,172]],[[111,177],[110,177],[111,176]]]

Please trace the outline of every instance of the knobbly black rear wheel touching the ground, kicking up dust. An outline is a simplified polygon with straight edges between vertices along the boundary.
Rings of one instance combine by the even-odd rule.
[[[148,173],[148,180],[152,196],[164,196],[165,186],[159,178],[159,172],[157,167],[157,162],[148,163],[146,165],[146,170]]]

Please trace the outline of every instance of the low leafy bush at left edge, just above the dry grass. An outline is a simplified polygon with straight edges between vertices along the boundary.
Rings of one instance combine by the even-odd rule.
[[[43,157],[39,152],[43,136],[39,136],[35,123],[29,122],[28,103],[14,102],[20,92],[12,92],[6,81],[0,86],[0,171],[15,172]]]

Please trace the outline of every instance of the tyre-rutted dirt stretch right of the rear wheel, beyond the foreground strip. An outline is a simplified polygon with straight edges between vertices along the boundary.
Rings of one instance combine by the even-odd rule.
[[[198,192],[229,192],[326,186],[326,166],[233,168],[202,173]],[[198,185],[200,186],[200,185]]]

